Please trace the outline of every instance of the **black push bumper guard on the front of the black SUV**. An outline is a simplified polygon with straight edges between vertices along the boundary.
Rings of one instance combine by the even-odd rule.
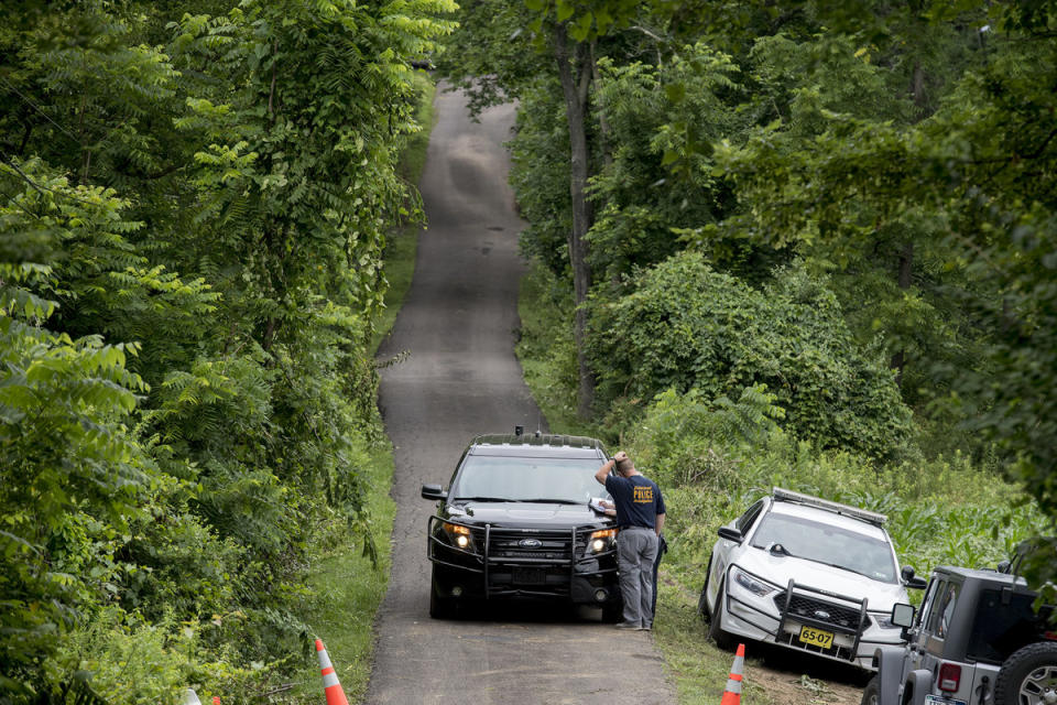
[[[457,527],[466,527],[473,536],[476,551],[459,549],[438,539],[443,533],[439,523],[449,523]],[[606,527],[604,529],[608,529]],[[497,528],[491,524],[469,524],[453,519],[442,519],[433,516],[428,524],[428,544],[426,555],[429,561],[436,565],[443,565],[455,571],[464,571],[471,574],[481,575],[483,583],[484,598],[491,597],[562,597],[571,596],[575,578],[582,578],[591,582],[591,578],[608,576],[615,583],[617,573],[617,549],[615,546],[588,554],[587,546],[590,535],[596,531],[603,529],[576,528],[576,529],[517,529],[517,528]],[[526,550],[520,554],[512,555],[511,551],[498,551],[500,543],[506,543],[512,540],[536,539],[544,545],[538,551]],[[559,545],[554,545],[559,544]],[[444,552],[450,552],[451,555],[458,555],[464,562],[456,563],[445,560],[437,555],[437,549]],[[533,555],[538,553],[540,555]],[[549,555],[547,555],[549,554]],[[612,557],[607,561],[607,557]],[[611,563],[612,567],[602,567],[603,564]],[[565,583],[565,592],[556,593],[554,589],[536,589],[532,586],[516,586],[511,588],[495,588],[490,579],[491,574],[498,567],[505,568],[532,568],[532,567],[562,567],[568,572],[568,581]]]

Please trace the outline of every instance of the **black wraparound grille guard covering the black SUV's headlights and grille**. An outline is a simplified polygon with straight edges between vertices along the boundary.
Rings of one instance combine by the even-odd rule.
[[[449,523],[449,524],[455,524],[457,527],[466,527],[467,529],[470,530],[470,535],[473,538],[475,544],[479,541],[480,538],[482,538],[482,534],[483,534],[484,541],[483,541],[482,551],[480,553],[477,551],[467,551],[465,549],[459,549],[458,546],[454,546],[449,543],[442,543],[440,540],[437,539],[436,536],[438,532],[444,531],[443,529],[437,527],[438,523]],[[592,553],[590,555],[585,554],[585,551],[587,550],[589,536],[596,531],[604,531],[607,529],[615,529],[615,527],[603,527],[603,528],[589,527],[589,528],[575,528],[575,529],[567,529],[567,530],[563,530],[563,529],[525,530],[525,529],[516,529],[516,528],[495,528],[495,527],[492,527],[492,524],[484,524],[483,527],[480,524],[469,524],[458,520],[442,519],[440,517],[437,517],[436,514],[434,514],[433,517],[429,517],[429,523],[427,527],[426,555],[429,558],[429,561],[432,561],[433,563],[445,565],[459,571],[467,571],[470,573],[482,574],[483,581],[484,581],[486,598],[491,597],[493,595],[498,597],[502,595],[512,595],[512,594],[537,595],[541,597],[546,597],[546,596],[553,596],[553,593],[546,593],[542,590],[532,590],[532,589],[521,589],[521,588],[516,590],[492,590],[488,581],[490,566],[500,565],[500,564],[511,565],[511,566],[514,566],[514,565],[525,565],[525,566],[566,565],[568,566],[568,570],[569,570],[570,583],[573,582],[573,577],[576,575],[579,575],[581,577],[590,577],[595,575],[606,575],[607,573],[615,573],[617,572],[615,567],[599,568],[596,571],[587,571],[587,570],[577,571],[576,570],[578,565],[588,564],[592,561],[598,561],[599,558],[602,558],[608,555],[613,555],[617,553],[617,549],[614,546],[612,549],[600,551],[599,553]],[[521,535],[525,539],[536,539],[536,538],[547,538],[547,536],[559,538],[562,540],[567,539],[569,540],[569,557],[532,558],[532,557],[522,557],[522,556],[492,555],[493,533]],[[459,563],[451,563],[450,561],[445,561],[443,558],[439,558],[437,557],[435,552],[435,547],[437,545],[443,545],[448,551],[455,551],[457,553],[466,555],[467,557],[473,558],[477,565],[476,566],[462,565]]]

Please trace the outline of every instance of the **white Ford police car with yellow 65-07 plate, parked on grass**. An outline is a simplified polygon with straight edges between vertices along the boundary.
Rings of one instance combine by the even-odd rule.
[[[923,588],[900,570],[885,517],[774,488],[719,529],[698,611],[722,648],[755,640],[872,669],[901,644],[892,606]]]

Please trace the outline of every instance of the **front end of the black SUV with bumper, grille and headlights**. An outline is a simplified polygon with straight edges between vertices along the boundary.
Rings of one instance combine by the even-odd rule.
[[[443,524],[466,527],[465,549],[447,540]],[[429,519],[427,556],[438,597],[469,600],[556,599],[578,605],[620,600],[617,550],[590,552],[595,528],[521,530]],[[528,547],[519,546],[527,541]]]

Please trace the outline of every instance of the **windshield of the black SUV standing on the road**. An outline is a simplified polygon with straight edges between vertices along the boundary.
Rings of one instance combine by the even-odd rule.
[[[466,458],[448,501],[556,501],[586,505],[609,499],[595,479],[601,462],[593,458],[519,458],[471,455]]]

